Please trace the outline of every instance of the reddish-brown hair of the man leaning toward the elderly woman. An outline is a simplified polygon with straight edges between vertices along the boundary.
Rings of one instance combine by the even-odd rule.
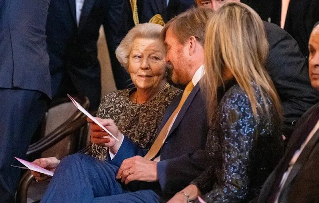
[[[206,23],[213,13],[211,8],[192,7],[169,20],[161,31],[161,37],[165,40],[166,32],[171,28],[179,43],[184,44],[190,36],[194,36],[203,46]]]

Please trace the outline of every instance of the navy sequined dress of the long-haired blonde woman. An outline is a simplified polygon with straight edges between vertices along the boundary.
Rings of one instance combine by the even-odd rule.
[[[212,165],[191,183],[207,203],[255,198],[283,155],[281,118],[271,100],[265,96],[263,101],[259,88],[252,84],[257,106],[264,109],[266,102],[269,115],[257,108],[256,119],[248,96],[234,80],[218,97],[221,100],[206,143]]]

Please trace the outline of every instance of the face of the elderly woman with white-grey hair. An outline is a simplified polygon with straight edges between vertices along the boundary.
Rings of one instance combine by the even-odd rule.
[[[165,78],[165,50],[158,39],[137,38],[129,58],[129,74],[137,88],[157,88]]]

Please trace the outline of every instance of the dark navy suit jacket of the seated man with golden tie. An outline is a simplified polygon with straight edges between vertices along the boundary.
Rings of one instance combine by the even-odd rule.
[[[177,107],[181,94],[166,109],[159,131]],[[210,164],[204,151],[208,131],[205,99],[197,84],[180,109],[160,150],[158,179],[164,199],[185,188]],[[146,150],[125,138],[116,156],[110,161],[121,166],[122,161],[134,155],[144,156]]]

